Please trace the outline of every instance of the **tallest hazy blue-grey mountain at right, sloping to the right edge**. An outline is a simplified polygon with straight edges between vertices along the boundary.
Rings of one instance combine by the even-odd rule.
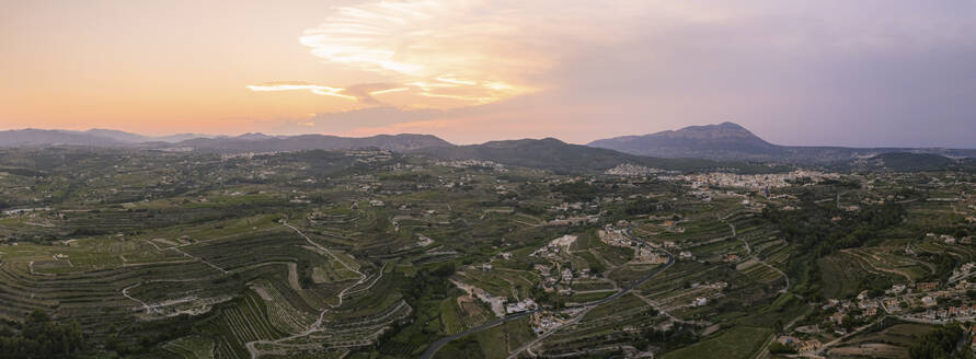
[[[587,146],[661,158],[780,163],[836,163],[888,152],[976,157],[976,150],[779,146],[769,143],[733,123],[691,126],[644,136],[615,137],[596,140]]]

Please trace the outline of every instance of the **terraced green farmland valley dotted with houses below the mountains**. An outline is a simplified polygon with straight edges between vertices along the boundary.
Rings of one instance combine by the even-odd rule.
[[[93,358],[907,358],[976,319],[961,174],[0,153],[0,334],[46,313]]]

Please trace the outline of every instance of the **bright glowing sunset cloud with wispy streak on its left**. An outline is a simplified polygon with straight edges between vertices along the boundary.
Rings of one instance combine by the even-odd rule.
[[[509,24],[503,18],[481,14],[484,4],[481,0],[383,1],[336,8],[299,42],[325,66],[360,71],[388,85],[248,88],[308,90],[412,108],[482,105],[538,91],[527,84],[526,77],[548,68],[552,59],[520,40],[520,20]],[[353,94],[353,89],[359,91]]]

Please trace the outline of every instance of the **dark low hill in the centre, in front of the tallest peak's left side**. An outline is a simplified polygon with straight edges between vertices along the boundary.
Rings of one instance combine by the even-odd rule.
[[[634,155],[608,149],[570,144],[554,138],[491,141],[482,144],[455,147],[429,147],[411,152],[441,160],[485,160],[508,165],[551,170],[556,173],[604,172],[620,164],[635,164],[674,171],[736,166],[735,164],[709,160],[659,159]],[[768,167],[749,167],[744,170],[769,171]]]

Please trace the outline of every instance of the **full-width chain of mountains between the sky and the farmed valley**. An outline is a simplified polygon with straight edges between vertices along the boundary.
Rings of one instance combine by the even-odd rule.
[[[0,131],[0,147],[45,147],[45,146],[92,146],[141,149],[191,149],[211,152],[279,152],[302,150],[342,150],[378,148],[398,152],[412,152],[427,148],[456,148],[455,150],[432,150],[435,154],[469,153],[486,155],[487,149],[530,148],[548,143],[540,149],[552,151],[562,148],[578,155],[584,153],[577,147],[555,138],[496,140],[481,144],[455,146],[439,137],[421,134],[377,135],[371,137],[340,137],[331,135],[278,136],[248,132],[239,136],[211,136],[177,134],[151,137],[113,129],[89,129],[84,131],[59,129],[16,129]],[[523,141],[523,142],[518,142]],[[520,144],[519,144],[520,143]],[[475,150],[475,147],[485,150]],[[722,162],[763,162],[780,164],[831,164],[860,158],[870,158],[889,152],[939,154],[948,158],[976,158],[976,150],[942,148],[846,148],[846,147],[800,147],[770,143],[745,127],[724,121],[715,125],[688,126],[677,130],[666,130],[641,136],[620,136],[595,140],[585,147],[613,150],[631,155],[663,159],[702,159]],[[423,152],[423,151],[420,151]],[[455,157],[452,154],[451,157]],[[501,154],[501,153],[498,153]],[[535,153],[528,153],[532,155]],[[503,157],[508,157],[505,154]],[[552,160],[573,162],[570,159],[550,155]],[[509,160],[517,161],[516,158]],[[520,161],[525,162],[525,161]],[[544,163],[541,163],[544,164]],[[552,164],[546,164],[553,166]],[[556,165],[558,166],[558,165]],[[602,165],[598,166],[602,167]]]

